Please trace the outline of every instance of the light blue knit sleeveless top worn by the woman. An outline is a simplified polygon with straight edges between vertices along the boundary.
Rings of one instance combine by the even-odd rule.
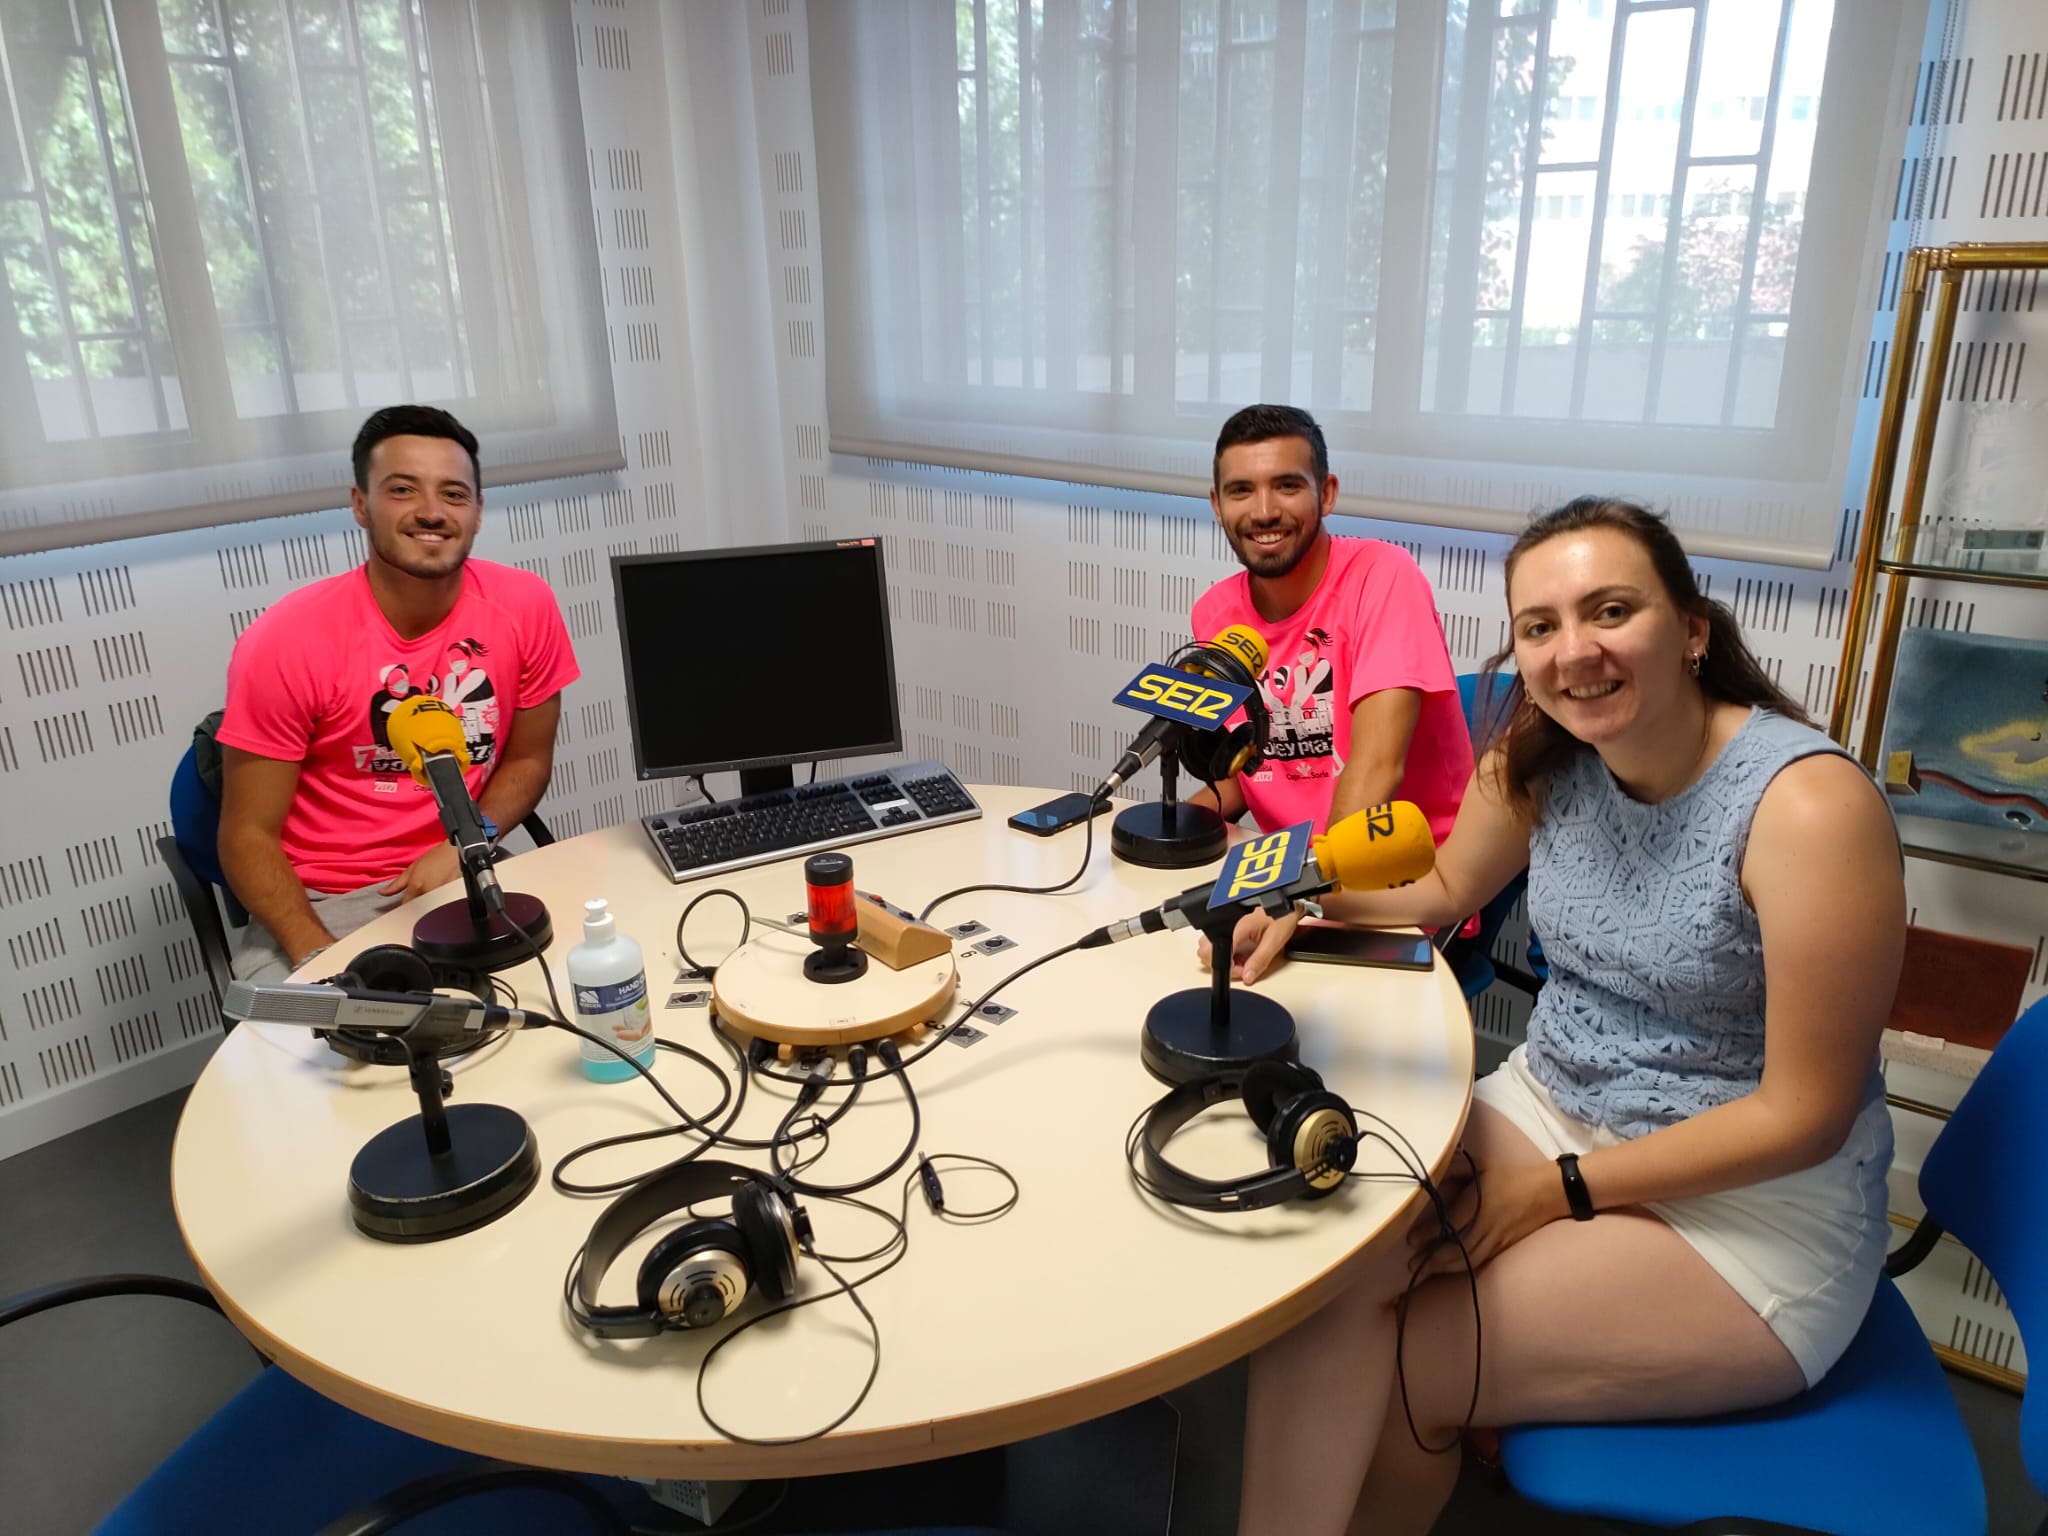
[[[1763,936],[1743,850],[1763,788],[1817,752],[1841,748],[1755,709],[1661,805],[1632,801],[1591,750],[1538,788],[1528,907],[1550,979],[1528,1067],[1561,1110],[1640,1137],[1761,1081]]]

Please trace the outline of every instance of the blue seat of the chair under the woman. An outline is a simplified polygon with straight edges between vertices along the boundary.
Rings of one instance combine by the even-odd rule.
[[[1718,1419],[1505,1430],[1501,1464],[1534,1503],[1645,1526],[1735,1516],[1835,1536],[1987,1528],[1956,1397],[1888,1276],[1810,1393]]]

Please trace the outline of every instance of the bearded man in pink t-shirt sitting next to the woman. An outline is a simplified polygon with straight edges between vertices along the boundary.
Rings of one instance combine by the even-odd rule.
[[[1438,844],[1458,819],[1473,741],[1430,578],[1405,549],[1333,539],[1337,502],[1323,428],[1292,406],[1247,406],[1217,438],[1208,502],[1245,569],[1194,604],[1208,639],[1229,625],[1266,637],[1260,692],[1266,764],[1204,788],[1225,817],[1317,829],[1382,801],[1413,801]]]

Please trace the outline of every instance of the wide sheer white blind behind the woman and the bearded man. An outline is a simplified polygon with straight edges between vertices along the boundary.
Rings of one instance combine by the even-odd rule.
[[[831,449],[1825,565],[1925,0],[811,6]],[[1862,291],[1862,303],[1860,303]]]

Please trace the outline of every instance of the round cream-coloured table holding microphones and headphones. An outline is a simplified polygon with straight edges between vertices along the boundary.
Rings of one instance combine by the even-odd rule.
[[[975,795],[979,821],[852,846],[856,885],[918,911],[969,881],[1049,885],[1073,872],[1079,827],[1032,838],[1004,825],[1042,791]],[[1090,870],[1073,891],[975,893],[934,913],[936,924],[979,920],[1014,940],[991,954],[969,948],[973,940],[961,946],[956,1008],[1038,954],[1214,872],[1114,862],[1106,840],[1100,817]],[[522,854],[502,879],[549,903],[557,934],[549,961],[563,991],[561,956],[580,936],[582,901],[606,897],[645,950],[657,1032],[721,1063],[731,1057],[707,1010],[666,1006],[688,989],[674,985],[684,901],[727,885],[768,915],[803,909],[801,860],[678,887],[637,823]],[[451,893],[387,913],[336,948],[346,958],[403,942],[414,920]],[[698,958],[713,958],[735,930],[731,903],[707,901],[686,940]],[[504,975],[522,1001],[547,1008],[537,965]],[[401,1069],[346,1063],[307,1030],[244,1024],[221,1042],[178,1124],[178,1225],[227,1315],[285,1370],[360,1413],[463,1450],[631,1477],[756,1477],[1006,1444],[1180,1386],[1276,1337],[1384,1255],[1405,1229],[1403,1208],[1417,1208],[1411,1184],[1356,1178],[1327,1200],[1247,1214],[1196,1214],[1139,1194],[1124,1135],[1163,1092],[1139,1063],[1139,1026],[1157,997],[1204,977],[1188,932],[1067,954],[997,993],[1014,1018],[985,1024],[973,1044],[946,1040],[911,1069],[922,1149],[1001,1163],[1020,1200],[999,1221],[946,1225],[911,1194],[907,1257],[860,1290],[881,1325],[874,1389],[838,1432],[797,1446],[729,1442],[698,1411],[698,1362],[731,1323],[612,1343],[571,1323],[563,1274],[604,1202],[559,1194],[545,1171],[522,1204],[461,1237],[393,1245],[360,1235],[348,1214],[348,1165],[416,1102]],[[1473,1083],[1470,1020],[1448,969],[1296,963],[1257,989],[1292,1010],[1303,1061],[1397,1126],[1442,1176]],[[709,1075],[674,1053],[664,1051],[655,1071],[692,1112],[717,1102]],[[578,1040],[557,1030],[508,1034],[453,1073],[453,1104],[506,1104],[526,1116],[543,1169],[586,1141],[674,1118],[639,1079],[586,1079]],[[766,1137],[793,1092],[756,1083],[737,1128]],[[809,1178],[877,1171],[907,1128],[901,1087],[870,1081]],[[633,1176],[688,1145],[672,1137],[608,1151],[584,1159],[573,1178]],[[1174,1155],[1210,1178],[1266,1165],[1262,1137],[1235,1110],[1202,1116],[1176,1139]],[[760,1163],[762,1153],[745,1161]],[[864,1198],[897,1210],[913,1167]],[[1393,1169],[1393,1159],[1366,1143],[1360,1169]],[[995,1204],[1001,1194],[987,1174],[946,1174],[950,1208]],[[887,1237],[870,1214],[805,1204],[827,1255],[862,1253]],[[639,1255],[666,1229],[621,1255],[600,1300],[633,1303]],[[799,1260],[799,1294],[829,1284],[817,1264]],[[750,1298],[739,1317],[762,1305]],[[868,1362],[866,1325],[846,1298],[831,1298],[737,1339],[713,1362],[705,1393],[737,1434],[803,1434],[854,1399]]]

